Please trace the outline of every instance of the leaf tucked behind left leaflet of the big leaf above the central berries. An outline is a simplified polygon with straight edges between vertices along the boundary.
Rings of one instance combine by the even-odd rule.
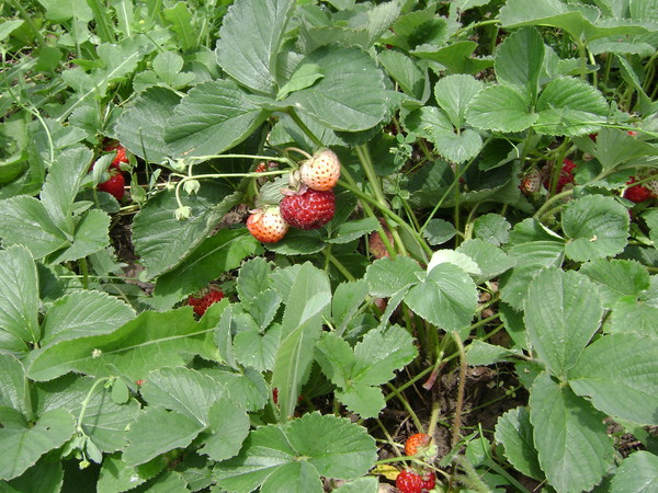
[[[148,88],[122,112],[114,127],[116,137],[135,156],[148,162],[163,162],[173,156],[164,133],[167,121],[180,101],[167,88]]]

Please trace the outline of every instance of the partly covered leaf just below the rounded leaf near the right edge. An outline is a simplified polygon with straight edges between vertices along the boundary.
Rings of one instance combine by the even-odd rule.
[[[597,283],[608,308],[624,296],[637,298],[650,286],[649,273],[635,261],[597,259],[583,264],[579,272]]]

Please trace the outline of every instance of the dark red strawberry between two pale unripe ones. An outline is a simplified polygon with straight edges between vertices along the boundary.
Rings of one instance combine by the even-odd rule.
[[[308,188],[303,194],[286,195],[280,207],[283,219],[292,227],[318,229],[333,218],[336,196],[333,191],[318,192]]]

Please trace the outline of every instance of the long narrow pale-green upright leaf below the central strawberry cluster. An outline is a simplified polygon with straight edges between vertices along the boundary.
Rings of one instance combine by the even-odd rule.
[[[331,288],[327,274],[305,263],[297,272],[286,299],[276,352],[272,385],[279,389],[281,415],[293,414],[299,390],[310,364],[314,346],[320,337],[322,318],[328,318]]]

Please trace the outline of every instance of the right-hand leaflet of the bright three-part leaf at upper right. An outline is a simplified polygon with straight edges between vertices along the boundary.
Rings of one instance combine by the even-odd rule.
[[[576,136],[599,130],[608,119],[608,103],[595,88],[569,77],[552,80],[536,105],[533,128],[541,134]]]

